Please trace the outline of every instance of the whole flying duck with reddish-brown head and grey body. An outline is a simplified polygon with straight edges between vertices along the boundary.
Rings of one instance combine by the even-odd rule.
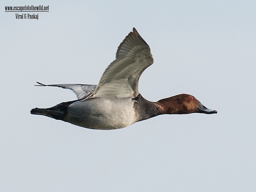
[[[133,28],[119,45],[116,59],[104,71],[98,85],[56,84],[72,90],[77,100],[62,102],[54,107],[31,110],[90,129],[112,130],[161,114],[213,114],[217,111],[203,106],[194,96],[175,95],[157,102],[142,97],[138,81],[143,71],[153,64],[149,45]]]

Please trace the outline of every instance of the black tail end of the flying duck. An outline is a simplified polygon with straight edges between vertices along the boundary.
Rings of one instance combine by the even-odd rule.
[[[30,113],[35,115],[44,115],[50,118],[64,120],[67,114],[67,107],[73,103],[74,101],[63,102],[58,104],[57,106],[45,108],[45,109],[31,109]]]

